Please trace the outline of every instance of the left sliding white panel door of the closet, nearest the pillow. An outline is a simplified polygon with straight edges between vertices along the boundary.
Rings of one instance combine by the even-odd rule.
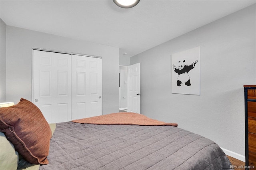
[[[33,103],[48,123],[71,121],[71,55],[33,50]]]

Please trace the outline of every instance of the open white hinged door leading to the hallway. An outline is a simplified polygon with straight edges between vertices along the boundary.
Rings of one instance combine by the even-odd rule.
[[[140,63],[128,66],[128,111],[140,113]]]

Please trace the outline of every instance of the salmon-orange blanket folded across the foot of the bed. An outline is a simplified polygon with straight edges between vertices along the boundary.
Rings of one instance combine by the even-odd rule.
[[[132,112],[111,113],[89,117],[84,119],[73,120],[74,123],[88,123],[96,125],[148,125],[148,126],[174,126],[178,127],[177,123],[165,123],[155,119],[150,119],[145,115]]]

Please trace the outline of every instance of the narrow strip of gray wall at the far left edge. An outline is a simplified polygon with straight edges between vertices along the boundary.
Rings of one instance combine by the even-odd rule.
[[[6,102],[6,24],[0,18],[0,102]]]

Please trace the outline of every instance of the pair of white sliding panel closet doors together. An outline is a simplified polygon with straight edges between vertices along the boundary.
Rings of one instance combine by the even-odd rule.
[[[33,50],[33,103],[48,123],[102,115],[101,58]]]

